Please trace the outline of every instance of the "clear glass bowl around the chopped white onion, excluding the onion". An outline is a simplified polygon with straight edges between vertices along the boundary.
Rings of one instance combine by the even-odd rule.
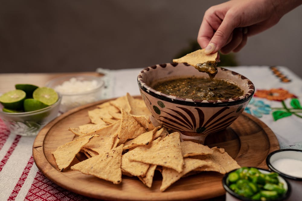
[[[75,92],[74,89],[71,89],[69,92],[58,90],[58,86],[62,85],[64,82],[70,81],[70,79],[76,79],[76,81],[94,81],[96,82],[96,87],[83,91],[79,89]],[[46,83],[47,87],[53,88],[58,93],[62,95],[62,102],[60,106],[60,112],[64,113],[72,108],[79,107],[81,105],[86,105],[88,103],[96,102],[102,99],[102,90],[104,88],[104,81],[100,77],[89,76],[89,75],[78,75],[78,76],[64,76],[58,77],[53,80],[50,80]],[[65,89],[64,89],[65,90]]]

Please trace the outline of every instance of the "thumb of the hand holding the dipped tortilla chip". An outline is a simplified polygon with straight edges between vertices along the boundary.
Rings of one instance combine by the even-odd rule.
[[[214,33],[214,36],[205,48],[204,53],[210,54],[218,52],[218,50],[220,50],[226,44],[231,33],[238,25],[234,18],[235,16],[228,13],[226,14],[217,31]]]

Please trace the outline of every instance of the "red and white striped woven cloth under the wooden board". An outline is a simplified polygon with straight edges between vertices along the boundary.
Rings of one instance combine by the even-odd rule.
[[[38,170],[34,138],[10,135],[0,119],[0,200],[92,200],[59,187]]]

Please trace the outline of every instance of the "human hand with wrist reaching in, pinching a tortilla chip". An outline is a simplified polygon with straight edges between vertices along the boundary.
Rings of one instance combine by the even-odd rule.
[[[278,23],[301,0],[231,0],[210,7],[204,14],[197,41],[205,53],[238,52],[247,37]]]

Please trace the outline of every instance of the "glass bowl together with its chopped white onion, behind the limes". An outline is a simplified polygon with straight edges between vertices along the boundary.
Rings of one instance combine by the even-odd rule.
[[[70,86],[72,84],[77,87]],[[50,80],[46,86],[62,95],[60,112],[64,113],[72,108],[102,99],[104,81],[100,77],[90,75],[63,76]]]

